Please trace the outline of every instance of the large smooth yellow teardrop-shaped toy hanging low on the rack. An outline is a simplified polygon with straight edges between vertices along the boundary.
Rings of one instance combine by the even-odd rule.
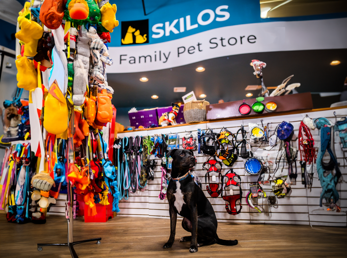
[[[60,134],[67,130],[67,121],[66,99],[57,84],[52,83],[44,103],[43,126],[49,133]]]

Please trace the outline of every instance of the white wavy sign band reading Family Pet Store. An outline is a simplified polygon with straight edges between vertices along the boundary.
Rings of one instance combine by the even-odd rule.
[[[275,21],[215,28],[156,44],[109,47],[113,65],[107,72],[161,70],[244,53],[347,48],[346,27],[347,18]]]

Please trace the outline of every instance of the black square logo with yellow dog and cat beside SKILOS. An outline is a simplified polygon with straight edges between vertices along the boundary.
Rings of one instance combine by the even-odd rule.
[[[148,19],[137,21],[122,21],[122,45],[149,43]]]

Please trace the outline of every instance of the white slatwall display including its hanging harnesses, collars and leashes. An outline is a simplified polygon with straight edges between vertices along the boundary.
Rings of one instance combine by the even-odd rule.
[[[142,215],[158,217],[159,214],[169,218],[165,194],[171,178],[172,158],[167,157],[163,149],[169,139],[173,139],[173,148],[193,150],[197,163],[191,169],[191,176],[208,196],[213,209],[218,211],[218,221],[346,225],[345,221],[335,219],[337,217],[328,218],[323,214],[335,213],[346,219],[340,206],[343,205],[341,198],[346,198],[345,191],[341,191],[341,177],[346,162],[343,144],[347,109],[335,111],[336,116],[334,110],[313,110],[290,116],[284,114],[129,131],[118,133],[120,139],[117,142],[123,146],[123,141],[126,145],[127,139],[141,136],[143,149],[147,148],[146,164],[143,162],[142,168],[142,175],[146,175],[140,174],[140,178],[147,179],[148,192],[143,194],[150,197],[159,193],[159,199],[163,201],[158,203],[149,198],[149,207],[140,208]],[[193,138],[196,149],[192,146]],[[179,139],[178,147],[176,139]],[[324,150],[329,153],[329,158],[317,155],[324,154]],[[226,163],[230,153],[233,159]],[[120,152],[119,165],[115,163],[115,167],[120,168],[119,178],[126,179],[119,190],[124,193],[131,184],[127,178],[131,179],[134,172],[130,170],[130,176],[126,175],[122,157],[125,155]],[[118,216],[138,214],[137,202],[143,197],[132,191],[128,196],[122,196],[125,198],[120,200]],[[315,201],[308,205],[307,197]],[[225,208],[221,210],[221,207]],[[122,208],[126,209],[124,215]],[[309,212],[304,213],[307,209]]]

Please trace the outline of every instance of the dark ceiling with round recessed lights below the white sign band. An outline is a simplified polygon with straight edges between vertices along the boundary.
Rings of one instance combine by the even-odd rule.
[[[275,87],[289,75],[290,83],[299,82],[298,92],[341,92],[347,76],[347,49],[306,50],[250,53],[218,57],[193,64],[158,71],[138,73],[108,73],[108,83],[115,90],[112,103],[116,107],[162,107],[181,101],[194,90],[195,95],[206,94],[211,104],[219,99],[234,101],[246,98],[247,85],[261,84],[253,75],[252,59],[266,63],[263,69],[265,86]],[[341,64],[332,66],[330,62]],[[196,72],[199,66],[204,72]],[[139,79],[147,77],[147,82]],[[187,87],[186,93],[174,92],[174,87]],[[158,95],[158,99],[152,99]],[[254,97],[253,96],[253,97]],[[198,98],[201,99],[201,98]]]

